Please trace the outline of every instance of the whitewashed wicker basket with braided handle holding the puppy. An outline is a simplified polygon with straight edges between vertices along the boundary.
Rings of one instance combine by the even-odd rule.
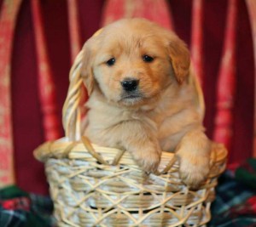
[[[130,154],[80,137],[80,52],[70,73],[63,107],[66,137],[47,142],[34,154],[45,163],[59,226],[201,226],[211,218],[214,187],[227,151],[212,144],[211,171],[198,190],[179,179],[178,162],[162,152],[159,174],[146,174]],[[195,81],[193,81],[195,82]],[[201,89],[197,105],[203,115]]]

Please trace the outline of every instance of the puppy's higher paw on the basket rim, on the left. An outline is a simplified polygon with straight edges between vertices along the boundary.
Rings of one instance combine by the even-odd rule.
[[[138,166],[147,173],[156,173],[160,164],[160,152],[157,150],[139,150],[133,154]]]

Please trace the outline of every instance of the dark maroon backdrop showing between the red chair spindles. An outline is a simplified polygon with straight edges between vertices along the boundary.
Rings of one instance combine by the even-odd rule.
[[[131,1],[131,0],[130,0]],[[104,23],[102,18],[107,2],[104,0],[77,1],[80,47]],[[229,1],[203,2],[202,59],[203,84],[206,99],[205,126],[213,138],[216,114],[218,71],[223,54],[225,25]],[[55,84],[56,115],[61,121],[61,108],[67,94],[68,71],[73,59],[68,4],[71,1],[39,1],[44,25],[49,65]],[[172,11],[173,29],[191,48],[192,7],[190,0],[166,1]],[[3,0],[0,0],[1,13]],[[236,20],[236,86],[233,124],[230,143],[230,164],[243,162],[253,154],[253,41],[247,5],[237,0]],[[69,13],[68,13],[69,12]],[[34,39],[34,21],[29,0],[23,0],[15,26],[11,53],[11,112],[15,175],[17,184],[32,192],[47,193],[44,167],[34,160],[32,150],[44,142],[44,126],[38,95],[38,61]],[[227,84],[226,86],[229,86]],[[63,135],[62,128],[61,135]],[[3,162],[0,160],[0,162]]]

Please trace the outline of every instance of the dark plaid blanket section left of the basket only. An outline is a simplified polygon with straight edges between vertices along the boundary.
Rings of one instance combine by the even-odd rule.
[[[28,194],[16,186],[0,190],[1,227],[50,227],[53,204],[48,196]]]

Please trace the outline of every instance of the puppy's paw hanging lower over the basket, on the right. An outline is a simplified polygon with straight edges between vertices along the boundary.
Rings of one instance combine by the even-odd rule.
[[[197,189],[210,172],[208,157],[188,158],[180,156],[180,178],[190,189]]]

